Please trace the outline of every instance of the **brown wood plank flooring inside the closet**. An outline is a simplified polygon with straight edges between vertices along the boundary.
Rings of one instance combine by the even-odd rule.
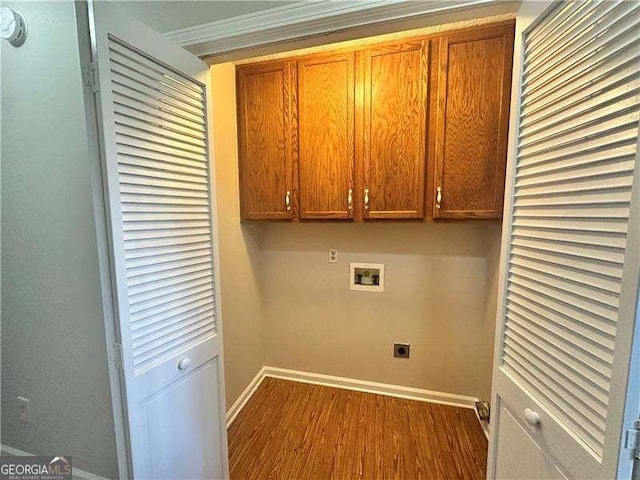
[[[266,378],[229,427],[231,480],[485,478],[473,410]]]

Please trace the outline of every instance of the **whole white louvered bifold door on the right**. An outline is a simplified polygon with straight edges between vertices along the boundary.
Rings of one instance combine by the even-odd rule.
[[[522,21],[489,472],[614,478],[638,295],[640,3]]]

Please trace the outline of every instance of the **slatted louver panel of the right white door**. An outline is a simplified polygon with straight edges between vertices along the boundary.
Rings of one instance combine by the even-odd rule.
[[[640,119],[640,6],[525,38],[501,369],[602,458]]]

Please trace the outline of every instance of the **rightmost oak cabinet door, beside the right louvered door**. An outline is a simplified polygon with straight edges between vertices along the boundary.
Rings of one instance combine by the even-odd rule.
[[[438,49],[435,218],[500,218],[513,25],[442,37]]]

